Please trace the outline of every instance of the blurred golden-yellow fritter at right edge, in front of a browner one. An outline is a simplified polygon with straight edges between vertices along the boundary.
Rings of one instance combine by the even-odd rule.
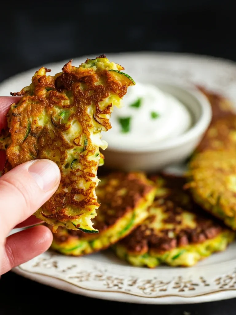
[[[185,188],[195,201],[236,230],[236,151],[198,153],[189,164],[188,180]]]

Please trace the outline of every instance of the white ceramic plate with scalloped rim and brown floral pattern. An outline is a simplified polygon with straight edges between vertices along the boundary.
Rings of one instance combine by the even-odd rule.
[[[136,81],[151,79],[153,82],[155,78],[181,84],[197,83],[225,94],[236,104],[236,64],[233,62],[186,54],[126,53],[107,54],[107,57],[124,66]],[[73,63],[78,65],[85,60],[83,57]],[[44,66],[55,74],[67,61]],[[1,83],[0,95],[9,95],[29,85],[38,68]],[[55,288],[107,300],[147,304],[216,301],[236,297],[236,243],[192,268],[132,267],[109,250],[80,258],[48,251],[14,268],[14,272]]]

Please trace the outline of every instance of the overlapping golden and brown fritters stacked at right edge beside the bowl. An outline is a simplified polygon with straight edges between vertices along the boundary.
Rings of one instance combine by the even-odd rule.
[[[204,209],[236,230],[236,115],[229,101],[215,99],[209,97],[214,119],[190,161],[185,187]]]

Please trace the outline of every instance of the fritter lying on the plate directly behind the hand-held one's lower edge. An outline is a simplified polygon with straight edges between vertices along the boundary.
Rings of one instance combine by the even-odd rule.
[[[85,255],[106,249],[129,234],[148,215],[155,186],[141,173],[113,173],[96,188],[98,216],[93,219],[98,234],[86,234],[59,227],[52,249],[65,255]]]

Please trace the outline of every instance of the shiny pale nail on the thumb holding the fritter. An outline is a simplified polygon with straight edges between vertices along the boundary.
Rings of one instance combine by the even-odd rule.
[[[49,191],[59,182],[59,168],[50,160],[37,160],[29,167],[28,172],[44,192]]]

